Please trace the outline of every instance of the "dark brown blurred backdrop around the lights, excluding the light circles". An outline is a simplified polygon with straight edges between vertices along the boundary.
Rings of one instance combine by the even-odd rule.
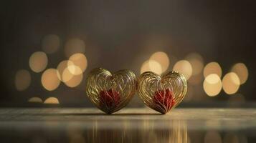
[[[57,34],[63,42],[74,36],[85,40],[85,76],[96,66],[131,69],[139,75],[141,64],[155,51],[179,59],[196,51],[204,63],[218,61],[224,73],[232,64],[243,62],[249,79],[239,92],[247,102],[254,102],[255,6],[250,0],[1,1],[1,106],[27,106],[27,99],[36,94],[42,99],[57,97],[62,106],[91,106],[82,89],[62,84],[47,92],[39,74],[32,74],[29,89],[16,91],[16,71],[29,69],[29,56],[42,51],[40,42],[47,34]],[[145,46],[151,37],[160,39],[160,44]],[[57,66],[65,58],[62,48],[48,58],[47,68]],[[210,100],[225,102],[227,96],[223,91],[220,95]]]

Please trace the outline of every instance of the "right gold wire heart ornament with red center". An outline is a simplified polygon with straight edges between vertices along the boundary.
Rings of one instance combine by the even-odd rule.
[[[138,78],[138,94],[151,109],[166,114],[181,103],[187,90],[186,79],[177,71],[169,71],[161,77],[146,71]]]

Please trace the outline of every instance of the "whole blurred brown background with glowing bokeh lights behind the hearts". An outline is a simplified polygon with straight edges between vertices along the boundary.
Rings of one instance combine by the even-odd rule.
[[[85,78],[103,67],[180,71],[180,107],[256,107],[254,3],[1,1],[0,106],[93,107]]]

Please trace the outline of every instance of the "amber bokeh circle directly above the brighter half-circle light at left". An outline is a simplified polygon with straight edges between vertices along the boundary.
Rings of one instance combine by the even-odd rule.
[[[49,91],[57,89],[60,85],[60,79],[57,76],[57,69],[47,69],[44,71],[41,82],[44,89]]]

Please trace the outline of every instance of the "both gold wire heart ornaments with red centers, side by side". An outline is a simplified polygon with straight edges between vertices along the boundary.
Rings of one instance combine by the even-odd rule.
[[[166,114],[181,103],[186,90],[186,79],[177,71],[161,76],[146,71],[137,79],[133,71],[120,70],[111,74],[97,68],[90,71],[86,80],[87,97],[107,114],[125,107],[136,92],[148,107]]]

